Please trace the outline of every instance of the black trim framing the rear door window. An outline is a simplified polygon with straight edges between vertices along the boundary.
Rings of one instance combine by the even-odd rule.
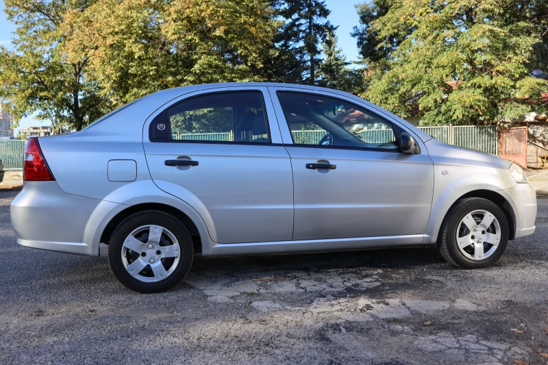
[[[177,105],[184,103],[185,101],[189,101],[191,99],[195,99],[197,97],[204,97],[208,95],[214,95],[214,94],[234,94],[237,92],[258,92],[260,95],[260,101],[262,104],[262,110],[264,114],[264,122],[266,123],[266,131],[269,136],[269,142],[242,142],[242,141],[222,141],[222,140],[173,140],[171,139],[173,134],[171,133],[171,123],[169,122],[169,110],[171,108],[175,108]],[[233,108],[234,109],[234,108]],[[234,110],[236,113],[236,110]],[[240,144],[240,145],[253,145],[253,146],[274,146],[274,145],[282,145],[272,142],[272,133],[271,133],[271,127],[270,127],[270,121],[269,121],[269,115],[268,111],[266,110],[266,103],[264,101],[264,92],[259,89],[249,89],[249,90],[219,90],[219,91],[212,91],[212,92],[201,92],[197,95],[192,95],[190,97],[187,97],[183,100],[177,101],[177,103],[173,103],[169,105],[168,107],[164,108],[160,113],[158,113],[149,123],[149,142],[153,143],[192,143],[192,144]],[[156,118],[159,118],[160,120],[163,120],[164,123],[166,123],[169,131],[168,136],[169,139],[165,140],[162,138],[154,138],[153,137],[153,123]],[[234,133],[236,133],[236,119],[234,119]]]

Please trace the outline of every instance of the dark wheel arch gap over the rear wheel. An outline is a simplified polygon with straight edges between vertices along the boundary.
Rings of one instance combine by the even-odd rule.
[[[130,205],[125,210],[122,210],[118,214],[116,214],[114,217],[110,219],[110,221],[107,223],[105,228],[103,229],[103,232],[101,233],[101,238],[99,242],[109,244],[110,238],[112,237],[112,234],[114,233],[114,229],[118,227],[118,225],[128,216],[137,213],[142,212],[145,210],[160,210],[162,212],[166,212],[168,214],[171,214],[172,216],[175,216],[183,225],[188,229],[188,233],[190,234],[190,237],[192,238],[192,246],[194,247],[195,253],[201,253],[202,252],[202,237],[200,234],[200,231],[197,227],[197,225],[192,221],[192,219],[186,215],[181,210],[178,210],[176,207],[173,207],[168,204],[164,203],[140,203],[136,205]]]

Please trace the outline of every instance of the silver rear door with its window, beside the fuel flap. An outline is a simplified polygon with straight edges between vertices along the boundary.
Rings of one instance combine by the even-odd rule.
[[[153,181],[194,207],[214,242],[292,238],[290,158],[268,95],[262,87],[192,92],[145,123]]]

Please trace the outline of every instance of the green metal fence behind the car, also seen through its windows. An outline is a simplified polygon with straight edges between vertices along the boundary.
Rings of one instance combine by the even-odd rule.
[[[430,136],[447,144],[458,147],[475,149],[498,155],[499,131],[496,125],[445,125],[441,127],[419,127]],[[297,143],[319,144],[325,136],[325,131],[292,131],[293,139]],[[393,140],[391,129],[372,129],[358,133],[358,137],[368,143],[386,143]],[[173,134],[177,140],[211,140],[232,141],[231,133],[202,133],[202,134]],[[25,152],[24,140],[0,140],[0,159],[5,170],[21,170],[23,168],[23,153]]]

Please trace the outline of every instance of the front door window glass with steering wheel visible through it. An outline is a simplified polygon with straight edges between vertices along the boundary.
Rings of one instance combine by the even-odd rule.
[[[293,143],[397,150],[392,125],[347,101],[277,92]]]

